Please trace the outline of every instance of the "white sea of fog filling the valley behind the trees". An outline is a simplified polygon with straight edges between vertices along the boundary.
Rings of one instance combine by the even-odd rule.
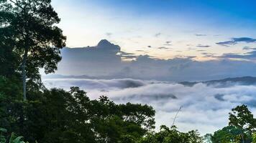
[[[256,85],[203,84],[193,86],[173,82],[137,79],[43,79],[45,87],[69,90],[80,87],[91,99],[105,95],[116,104],[148,104],[156,110],[155,121],[171,126],[173,118],[180,131],[198,129],[201,134],[213,133],[228,124],[229,112],[239,104],[247,104],[256,115]]]

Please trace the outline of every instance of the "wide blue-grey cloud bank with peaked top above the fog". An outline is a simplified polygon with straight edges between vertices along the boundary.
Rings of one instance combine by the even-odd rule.
[[[206,57],[214,56],[207,54],[207,52],[203,54]],[[156,59],[148,55],[124,52],[118,45],[103,40],[96,46],[64,48],[61,51],[61,56],[63,59],[58,64],[56,74],[63,75],[86,75],[104,79],[155,79],[175,82],[256,76],[256,64],[253,61],[255,60],[255,51],[244,55],[214,56],[219,60],[211,61],[195,61],[193,60],[195,56]],[[234,56],[242,59],[248,58],[247,60],[250,61],[230,59]]]

